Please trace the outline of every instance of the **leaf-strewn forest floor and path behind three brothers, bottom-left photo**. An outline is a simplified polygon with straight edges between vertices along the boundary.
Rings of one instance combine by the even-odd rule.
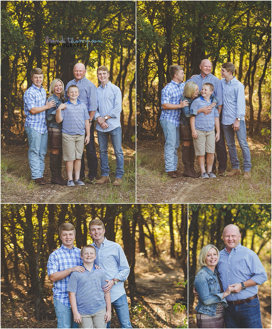
[[[176,287],[181,280],[181,268],[176,260],[152,261],[150,258],[136,259],[135,277],[137,284],[137,305],[130,308],[133,328],[176,328],[181,315],[174,315],[175,300],[182,296],[184,288]],[[183,277],[182,277],[183,278]],[[1,289],[1,328],[56,328],[53,308],[52,283],[46,277],[44,307],[41,320],[34,317],[34,303],[27,294],[25,282],[18,285],[11,282],[10,288]],[[130,300],[128,298],[129,306]],[[113,312],[112,328],[119,328]]]

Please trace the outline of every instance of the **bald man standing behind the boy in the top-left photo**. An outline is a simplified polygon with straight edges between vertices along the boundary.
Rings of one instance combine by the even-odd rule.
[[[76,85],[79,89],[78,101],[87,106],[87,110],[90,115],[90,142],[85,145],[87,163],[89,168],[88,178],[90,183],[95,181],[97,176],[97,155],[95,150],[95,137],[94,137],[94,115],[98,108],[97,103],[97,93],[95,85],[85,77],[86,68],[83,63],[76,63],[73,68],[74,79],[69,81],[65,88],[65,98],[69,99],[67,96],[67,89],[71,85]],[[85,162],[84,162],[84,152],[81,158],[81,168],[80,168],[80,178],[85,177]]]

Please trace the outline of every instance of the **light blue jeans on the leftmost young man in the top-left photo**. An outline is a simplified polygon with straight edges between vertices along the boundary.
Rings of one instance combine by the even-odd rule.
[[[47,152],[48,133],[41,134],[31,127],[25,127],[28,139],[28,162],[31,171],[31,178],[43,177],[44,158]]]

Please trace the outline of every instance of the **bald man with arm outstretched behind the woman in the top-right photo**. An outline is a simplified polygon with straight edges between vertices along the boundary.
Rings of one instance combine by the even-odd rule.
[[[195,75],[191,79],[187,80],[188,81],[194,81],[197,85],[199,90],[202,89],[202,86],[204,83],[211,83],[214,88],[214,95],[218,97],[218,106],[219,106],[219,123],[220,123],[220,138],[219,140],[215,143],[215,149],[216,149],[216,158],[218,161],[218,174],[219,176],[223,176],[224,172],[227,169],[227,160],[228,160],[228,155],[227,155],[227,149],[226,149],[226,144],[225,144],[225,138],[224,138],[224,133],[223,133],[223,128],[222,128],[222,104],[223,104],[223,93],[222,93],[222,85],[220,80],[211,74],[211,69],[212,69],[212,63],[208,59],[204,59],[201,61],[199,65],[201,73],[198,75]],[[186,83],[185,82],[185,83]],[[216,158],[214,157],[214,164],[212,167],[212,170],[216,170]]]

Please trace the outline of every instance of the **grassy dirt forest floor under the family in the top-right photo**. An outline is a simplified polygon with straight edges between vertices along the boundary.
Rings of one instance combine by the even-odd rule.
[[[270,203],[271,155],[258,140],[248,139],[251,151],[251,179],[218,176],[214,179],[169,178],[164,171],[164,139],[137,141],[137,202],[139,203]],[[237,146],[238,158],[242,154]],[[178,170],[183,172],[181,145]],[[242,166],[241,166],[242,167]],[[199,171],[197,160],[195,169]],[[231,170],[228,156],[227,170]]]

